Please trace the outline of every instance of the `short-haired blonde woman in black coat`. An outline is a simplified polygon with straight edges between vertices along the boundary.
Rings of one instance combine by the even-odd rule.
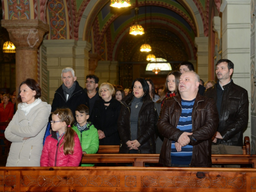
[[[117,120],[121,104],[113,98],[115,89],[112,84],[104,82],[100,85],[99,95],[102,99],[95,101],[90,121],[98,130],[100,145],[119,145]]]

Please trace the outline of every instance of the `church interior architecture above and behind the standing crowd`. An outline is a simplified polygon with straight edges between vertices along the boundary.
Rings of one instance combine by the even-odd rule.
[[[130,1],[129,1],[130,2]],[[190,61],[204,81],[216,80],[221,58],[234,63],[233,81],[249,95],[249,136],[255,154],[255,0],[131,0],[111,7],[110,0],[0,2],[0,88],[12,92],[30,77],[51,103],[61,85],[61,70],[72,67],[85,87],[87,74],[131,87],[136,77],[163,86],[171,70]],[[130,34],[132,27],[143,34]],[[16,53],[4,53],[11,41]],[[140,51],[150,45],[150,52]],[[147,56],[154,55],[154,62]],[[158,61],[156,63],[156,61]],[[148,63],[155,67],[147,70]],[[160,67],[164,66],[162,70]],[[158,73],[158,74],[156,74]],[[16,90],[17,91],[17,90]]]

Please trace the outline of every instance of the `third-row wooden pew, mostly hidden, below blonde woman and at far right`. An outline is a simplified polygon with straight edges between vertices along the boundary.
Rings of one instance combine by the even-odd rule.
[[[99,145],[98,154],[117,154],[119,152],[119,145]],[[243,154],[250,155],[251,147],[250,147],[250,138],[248,136],[244,137],[244,146],[243,146]]]

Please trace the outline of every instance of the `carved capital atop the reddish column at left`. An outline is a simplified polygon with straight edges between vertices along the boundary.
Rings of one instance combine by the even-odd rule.
[[[41,44],[49,25],[39,19],[1,20],[2,27],[9,32],[16,50],[34,50]]]

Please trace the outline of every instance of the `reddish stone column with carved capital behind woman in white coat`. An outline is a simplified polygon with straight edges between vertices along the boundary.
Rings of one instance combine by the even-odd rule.
[[[37,80],[37,50],[49,25],[38,19],[2,20],[2,27],[9,32],[16,47],[16,92],[27,78]]]

